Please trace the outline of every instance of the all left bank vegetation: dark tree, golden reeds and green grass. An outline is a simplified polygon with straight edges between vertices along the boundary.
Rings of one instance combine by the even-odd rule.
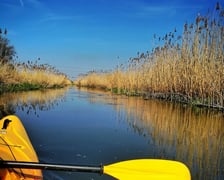
[[[71,84],[68,77],[48,64],[38,61],[18,63],[14,47],[9,45],[7,30],[0,29],[0,94],[43,88],[59,88]]]

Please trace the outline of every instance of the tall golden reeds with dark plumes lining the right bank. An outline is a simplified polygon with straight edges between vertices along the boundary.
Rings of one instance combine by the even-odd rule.
[[[78,86],[142,94],[196,105],[224,107],[224,10],[217,3],[210,15],[197,16],[164,37],[157,47],[138,53],[127,65],[109,73],[80,77]]]

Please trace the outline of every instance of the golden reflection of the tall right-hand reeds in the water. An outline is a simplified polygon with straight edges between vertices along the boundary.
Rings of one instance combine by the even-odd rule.
[[[100,92],[98,92],[100,93]],[[224,114],[135,97],[89,93],[92,103],[113,105],[135,132],[154,146],[152,158],[182,161],[193,179],[224,177]]]

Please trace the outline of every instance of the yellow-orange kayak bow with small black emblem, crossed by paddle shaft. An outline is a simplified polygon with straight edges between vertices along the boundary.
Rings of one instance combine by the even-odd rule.
[[[0,120],[0,159],[7,161],[38,162],[36,152],[18,117],[10,115]],[[41,170],[0,168],[1,180],[40,180]]]

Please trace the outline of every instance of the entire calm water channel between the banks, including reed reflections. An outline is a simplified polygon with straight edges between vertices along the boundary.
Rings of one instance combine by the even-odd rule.
[[[184,162],[192,179],[224,179],[224,114],[158,100],[68,89],[0,96],[22,120],[41,162],[106,165],[137,158]],[[44,179],[112,180],[44,171]]]

